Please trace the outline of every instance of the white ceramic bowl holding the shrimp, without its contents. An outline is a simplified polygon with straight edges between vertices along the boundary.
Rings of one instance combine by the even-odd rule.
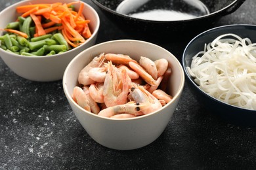
[[[79,107],[72,99],[73,89],[78,85],[79,72],[102,52],[127,54],[137,61],[140,56],[152,60],[167,59],[173,71],[168,82],[168,93],[173,96],[172,101],[156,112],[123,120],[104,118]],[[65,95],[81,125],[97,143],[117,150],[140,148],[155,141],[173,116],[183,87],[184,71],[173,54],[156,44],[135,40],[108,41],[87,48],[72,59],[63,76]]]

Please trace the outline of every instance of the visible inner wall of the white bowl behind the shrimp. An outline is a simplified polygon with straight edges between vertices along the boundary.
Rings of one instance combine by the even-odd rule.
[[[173,101],[175,101],[175,99],[181,95],[182,88],[184,86],[184,73],[179,60],[175,58],[175,56],[160,46],[151,44],[149,42],[117,40],[96,44],[95,46],[81,52],[70,62],[66,68],[63,78],[64,91],[70,100],[72,100],[71,96],[74,87],[79,85],[77,84],[79,72],[81,69],[83,69],[83,67],[85,67],[85,65],[87,65],[87,63],[89,63],[89,61],[91,61],[91,59],[98,56],[102,52],[105,54],[126,54],[137,61],[139,61],[140,56],[145,56],[153,61],[160,58],[167,59],[167,61],[169,61],[169,66],[172,69],[172,75],[169,78],[167,86],[167,93],[173,96]],[[172,102],[168,103],[168,105],[171,105],[171,103]]]

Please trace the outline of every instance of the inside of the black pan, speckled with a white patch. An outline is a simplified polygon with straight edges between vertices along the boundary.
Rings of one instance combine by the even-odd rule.
[[[172,13],[172,16],[169,16],[169,19],[163,20],[164,17],[158,18],[155,21],[175,21],[175,20],[191,20],[194,18],[198,18],[200,16],[205,16],[208,14],[212,14],[214,12],[219,12],[219,10],[226,9],[228,6],[234,3],[234,0],[227,0],[227,1],[211,1],[211,0],[191,0],[191,1],[184,1],[184,0],[160,0],[160,1],[152,1],[152,0],[92,0],[96,5],[104,10],[108,10],[108,12],[112,12],[113,14],[117,14],[120,16],[128,17],[129,18],[137,18],[139,20],[147,20],[147,21],[154,21],[155,16],[153,15],[153,11],[158,11],[158,16],[161,13],[165,13],[167,11],[175,11]],[[146,12],[145,12],[146,11]],[[143,14],[141,14],[143,12]],[[151,12],[151,13],[150,13]],[[161,12],[161,13],[159,13]],[[181,15],[186,14],[185,15]],[[146,14],[152,14],[149,18],[138,18],[145,16]],[[165,13],[167,14],[167,13]],[[178,15],[179,14],[179,15]],[[194,17],[188,17],[188,14]],[[170,15],[170,14],[169,14]],[[175,17],[177,16],[177,18]]]

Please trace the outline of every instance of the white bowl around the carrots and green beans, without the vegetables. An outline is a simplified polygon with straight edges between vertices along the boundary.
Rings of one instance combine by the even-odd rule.
[[[70,3],[76,0],[60,0],[61,3]],[[21,5],[36,3],[56,3],[54,0],[29,0],[29,1],[20,1],[7,7],[7,9],[0,12],[0,27],[5,28],[9,22],[13,22],[17,19],[19,14],[16,12],[16,7]],[[83,1],[81,1],[83,3]],[[74,4],[75,9],[78,10],[79,4]],[[47,82],[54,80],[61,80],[63,73],[70,61],[77,55],[79,52],[85,50],[86,48],[93,46],[98,35],[98,29],[100,26],[100,19],[97,12],[93,7],[84,3],[83,14],[85,18],[91,20],[89,27],[91,28],[92,36],[87,39],[86,42],[80,46],[64,52],[63,54],[56,54],[53,56],[21,56],[17,54],[12,54],[0,48],[0,56],[6,65],[17,75],[22,76],[28,80],[34,80],[39,82]]]

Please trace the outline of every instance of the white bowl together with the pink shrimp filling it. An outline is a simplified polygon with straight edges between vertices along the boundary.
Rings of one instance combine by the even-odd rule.
[[[146,146],[169,124],[184,87],[171,52],[145,41],[96,44],[69,63],[66,98],[93,140],[116,150]]]

